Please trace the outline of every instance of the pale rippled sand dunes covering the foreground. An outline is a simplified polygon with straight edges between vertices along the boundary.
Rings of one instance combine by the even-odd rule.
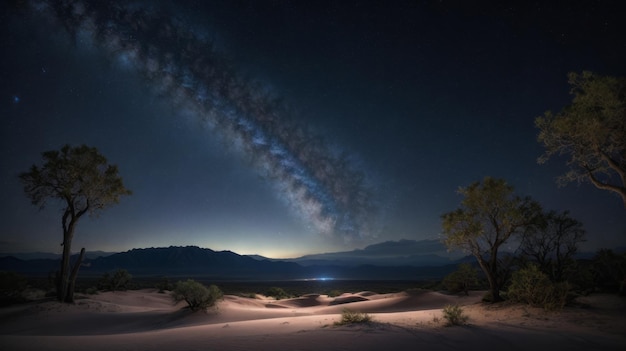
[[[74,305],[36,302],[0,309],[1,350],[626,350],[626,300],[581,298],[560,312],[487,305],[483,292],[438,292],[275,301],[225,296],[217,309],[191,313],[156,290],[107,292]],[[442,308],[463,306],[469,320],[445,326]],[[344,308],[373,317],[336,326]]]

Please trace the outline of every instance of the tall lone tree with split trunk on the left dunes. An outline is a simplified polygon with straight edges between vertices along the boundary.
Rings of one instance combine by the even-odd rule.
[[[44,152],[42,157],[43,166],[33,165],[19,177],[26,196],[40,209],[48,199],[58,200],[65,206],[61,218],[63,256],[56,282],[57,298],[73,302],[74,284],[85,252],[83,248],[70,270],[72,239],[78,220],[86,213],[95,215],[118,203],[120,196],[131,192],[124,187],[117,166],[109,165],[94,147],[65,145],[60,151]]]

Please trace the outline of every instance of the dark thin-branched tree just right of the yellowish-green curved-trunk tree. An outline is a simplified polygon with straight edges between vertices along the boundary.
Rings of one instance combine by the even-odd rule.
[[[543,213],[537,225],[526,232],[521,249],[550,280],[559,282],[566,280],[576,265],[574,255],[584,237],[582,223],[571,218],[568,211],[550,211]]]

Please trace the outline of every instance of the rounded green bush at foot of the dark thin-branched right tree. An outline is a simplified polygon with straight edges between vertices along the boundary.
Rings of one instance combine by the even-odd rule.
[[[568,292],[567,282],[554,283],[539,267],[529,265],[513,273],[508,297],[514,302],[527,303],[546,310],[558,310],[565,306]]]

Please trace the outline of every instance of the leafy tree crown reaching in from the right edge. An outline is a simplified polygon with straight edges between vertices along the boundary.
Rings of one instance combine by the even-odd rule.
[[[567,155],[569,171],[559,185],[589,181],[621,196],[626,207],[626,77],[569,73],[574,99],[557,114],[535,119],[545,146],[539,163]]]

